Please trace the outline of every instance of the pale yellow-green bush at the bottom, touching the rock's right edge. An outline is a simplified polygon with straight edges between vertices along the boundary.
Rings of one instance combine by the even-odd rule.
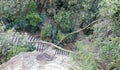
[[[75,48],[76,50],[71,56],[75,64],[73,70],[98,70],[91,47],[77,41]]]

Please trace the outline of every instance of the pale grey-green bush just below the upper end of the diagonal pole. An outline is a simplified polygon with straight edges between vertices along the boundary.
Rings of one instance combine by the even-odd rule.
[[[105,38],[113,35],[112,19],[105,19],[99,24],[93,25],[93,37],[96,41],[103,41]],[[98,42],[99,43],[99,42]]]

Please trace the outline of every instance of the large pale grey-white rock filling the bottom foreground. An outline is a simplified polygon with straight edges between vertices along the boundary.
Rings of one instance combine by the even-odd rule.
[[[39,57],[41,55],[44,56],[37,51],[22,52],[2,64],[0,70],[69,70],[68,56],[56,55],[53,59],[46,60],[46,55],[43,58]]]

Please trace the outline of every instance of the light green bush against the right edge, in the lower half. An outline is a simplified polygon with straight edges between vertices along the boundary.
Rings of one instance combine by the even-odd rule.
[[[120,69],[120,38],[111,38],[111,41],[104,41],[100,57],[107,63],[109,68]]]

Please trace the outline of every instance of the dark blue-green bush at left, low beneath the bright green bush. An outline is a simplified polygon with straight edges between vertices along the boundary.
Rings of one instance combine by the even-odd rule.
[[[11,24],[8,24],[6,25],[6,30],[7,27],[10,27],[9,29],[11,28],[14,28],[16,31],[26,31],[26,32],[30,32],[30,33],[35,33],[39,27],[37,26],[32,26],[29,24],[29,22],[25,19],[19,19],[19,20],[15,20],[12,25]]]

